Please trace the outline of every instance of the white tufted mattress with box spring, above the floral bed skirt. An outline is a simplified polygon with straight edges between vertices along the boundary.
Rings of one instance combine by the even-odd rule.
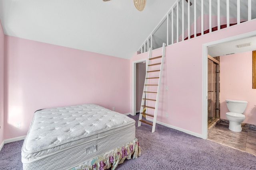
[[[134,119],[95,104],[43,109],[23,143],[23,169],[70,169],[134,139]]]

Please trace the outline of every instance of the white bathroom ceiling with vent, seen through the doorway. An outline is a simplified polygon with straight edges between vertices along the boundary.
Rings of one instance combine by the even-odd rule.
[[[238,45],[243,45],[251,43],[250,46],[247,47],[238,47]],[[238,39],[235,41],[230,41],[228,43],[222,43],[218,45],[214,45],[208,47],[208,54],[212,57],[230,55],[233,53],[243,53],[246,51],[254,51],[256,50],[256,36],[248,37],[244,39]]]

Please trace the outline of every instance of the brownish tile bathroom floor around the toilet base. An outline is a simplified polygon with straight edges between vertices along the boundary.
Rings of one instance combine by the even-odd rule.
[[[242,125],[242,132],[233,132],[228,124],[216,123],[208,129],[208,140],[256,155],[256,128],[249,125]]]

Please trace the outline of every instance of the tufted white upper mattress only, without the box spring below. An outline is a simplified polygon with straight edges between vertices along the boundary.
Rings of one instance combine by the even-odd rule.
[[[34,113],[22,146],[22,162],[33,162],[134,125],[134,119],[95,104],[42,109]]]

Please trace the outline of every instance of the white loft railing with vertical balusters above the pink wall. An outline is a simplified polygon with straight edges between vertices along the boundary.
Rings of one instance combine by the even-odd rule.
[[[138,52],[171,45],[256,18],[256,0],[178,0]]]

